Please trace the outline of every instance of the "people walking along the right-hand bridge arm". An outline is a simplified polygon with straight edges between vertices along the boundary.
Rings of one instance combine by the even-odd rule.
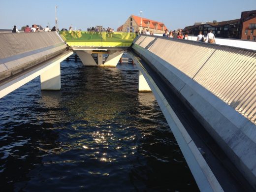
[[[147,34],[147,33],[142,33],[142,34]],[[150,33],[150,34],[153,34],[153,33]],[[162,36],[170,37],[170,38],[178,38],[178,39],[187,39],[187,40],[189,39],[188,33],[185,32],[185,34],[182,34],[182,30],[179,30],[179,32],[177,33],[175,30],[169,32],[166,29],[165,33],[163,33]],[[199,34],[197,35],[196,41],[215,43],[215,35],[212,33],[212,30],[210,30],[207,33],[206,38],[204,38],[204,35],[202,34],[202,32],[199,32]]]

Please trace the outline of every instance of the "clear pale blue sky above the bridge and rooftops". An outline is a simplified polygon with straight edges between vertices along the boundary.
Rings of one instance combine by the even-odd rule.
[[[87,30],[102,25],[116,30],[133,15],[160,21],[169,30],[185,28],[194,22],[238,19],[242,11],[256,10],[256,0],[1,0],[0,29],[40,24],[55,25],[55,5],[59,29]],[[209,7],[207,4],[211,4]]]

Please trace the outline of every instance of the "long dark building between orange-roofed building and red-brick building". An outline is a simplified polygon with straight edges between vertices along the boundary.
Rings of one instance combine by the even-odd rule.
[[[198,35],[200,31],[204,35],[209,30],[215,34],[216,37],[222,38],[239,38],[239,23],[240,19],[234,19],[222,22],[206,22],[206,23],[195,23],[193,26],[188,26],[183,29],[183,32],[188,32],[191,35]]]

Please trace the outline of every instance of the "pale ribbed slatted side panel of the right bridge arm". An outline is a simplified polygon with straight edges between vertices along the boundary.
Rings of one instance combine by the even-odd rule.
[[[135,41],[256,124],[256,51],[147,35]]]

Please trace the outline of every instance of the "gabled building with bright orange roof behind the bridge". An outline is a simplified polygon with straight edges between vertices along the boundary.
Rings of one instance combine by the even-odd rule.
[[[141,18],[139,16],[131,15],[128,17],[124,25],[120,26],[118,32],[140,32],[140,22],[142,21],[142,28],[149,29],[153,33],[164,33],[167,29],[165,25],[158,21]]]

